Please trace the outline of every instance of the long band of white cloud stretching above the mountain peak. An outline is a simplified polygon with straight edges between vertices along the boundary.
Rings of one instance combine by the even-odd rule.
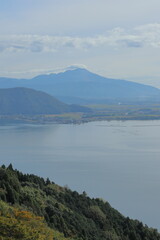
[[[0,52],[55,52],[60,49],[87,50],[97,47],[160,47],[160,24],[147,24],[131,30],[114,28],[105,35],[70,37],[51,35],[1,35]]]

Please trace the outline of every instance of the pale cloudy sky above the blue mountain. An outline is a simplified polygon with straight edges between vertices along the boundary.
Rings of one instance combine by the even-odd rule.
[[[160,88],[159,0],[0,0],[0,76],[68,66]]]

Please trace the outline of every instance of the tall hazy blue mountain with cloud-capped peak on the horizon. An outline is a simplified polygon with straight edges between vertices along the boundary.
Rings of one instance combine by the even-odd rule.
[[[0,88],[27,87],[44,91],[66,103],[109,103],[160,100],[160,90],[126,80],[111,79],[82,68],[32,79],[0,78]]]

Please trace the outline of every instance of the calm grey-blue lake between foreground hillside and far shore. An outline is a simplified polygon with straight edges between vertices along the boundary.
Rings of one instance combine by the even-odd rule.
[[[0,126],[1,164],[107,200],[160,230],[160,121]]]

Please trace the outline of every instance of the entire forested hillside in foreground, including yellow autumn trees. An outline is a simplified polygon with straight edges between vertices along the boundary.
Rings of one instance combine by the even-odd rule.
[[[124,217],[108,202],[12,165],[0,168],[0,199],[1,240],[160,240],[157,230]]]

